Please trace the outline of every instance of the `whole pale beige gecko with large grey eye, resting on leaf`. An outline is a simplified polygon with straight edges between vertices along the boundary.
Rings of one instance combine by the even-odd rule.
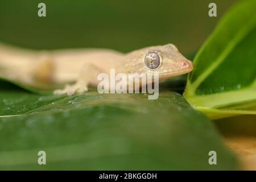
[[[184,75],[193,69],[174,44],[151,46],[129,53],[111,49],[60,49],[35,51],[0,44],[0,76],[28,85],[66,83],[54,94],[84,93],[97,86],[97,75],[157,73],[159,81]],[[37,84],[36,84],[37,83]],[[72,84],[67,84],[72,83]],[[40,86],[38,86],[40,87]]]

